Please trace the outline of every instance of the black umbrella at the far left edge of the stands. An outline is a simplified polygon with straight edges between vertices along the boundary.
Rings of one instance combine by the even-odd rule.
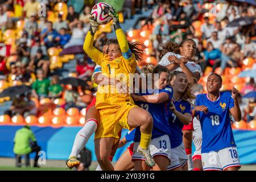
[[[27,85],[11,86],[3,90],[3,92],[0,93],[0,97],[15,97],[16,95],[24,94],[29,90],[31,90],[31,86],[27,86]]]

